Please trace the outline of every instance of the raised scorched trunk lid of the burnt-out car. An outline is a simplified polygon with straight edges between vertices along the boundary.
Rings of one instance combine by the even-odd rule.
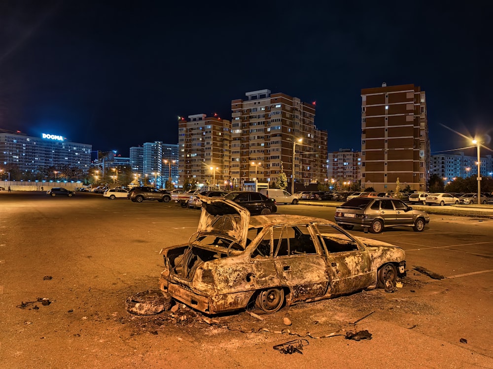
[[[232,237],[246,247],[250,212],[237,203],[222,197],[197,196],[202,201],[198,234],[215,233]]]

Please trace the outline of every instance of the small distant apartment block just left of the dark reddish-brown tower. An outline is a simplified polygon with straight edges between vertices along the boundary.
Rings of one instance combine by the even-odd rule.
[[[328,153],[327,181],[336,188],[350,187],[361,179],[361,152],[339,149]]]

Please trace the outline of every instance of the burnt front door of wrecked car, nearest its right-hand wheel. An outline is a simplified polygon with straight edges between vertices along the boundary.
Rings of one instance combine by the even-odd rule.
[[[368,287],[372,283],[371,260],[366,249],[350,234],[331,224],[317,224],[330,273],[328,295],[340,295]]]

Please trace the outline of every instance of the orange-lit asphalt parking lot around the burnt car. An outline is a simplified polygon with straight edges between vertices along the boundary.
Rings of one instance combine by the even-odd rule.
[[[200,363],[205,368],[306,368],[323,362],[363,368],[493,368],[489,218],[433,214],[422,233],[404,228],[378,235],[352,231],[405,249],[408,276],[395,293],[374,290],[300,304],[263,320],[240,311],[210,324],[183,306],[178,318],[133,316],[124,308],[128,296],[157,287],[159,250],[186,242],[197,227],[199,210],[95,194],[51,198],[0,193],[0,204],[0,354],[5,367]],[[333,219],[334,211],[279,206],[279,213],[327,219]],[[430,278],[415,266],[445,278]],[[38,298],[51,303],[44,306]],[[28,302],[34,303],[21,307]],[[356,325],[368,330],[371,340],[312,338],[353,329],[349,323],[372,311]],[[283,324],[284,317],[291,326]],[[303,355],[273,349],[302,336],[309,341]]]

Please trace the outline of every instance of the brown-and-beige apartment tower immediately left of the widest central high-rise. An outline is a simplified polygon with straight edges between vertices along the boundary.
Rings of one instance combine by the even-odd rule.
[[[231,122],[206,114],[188,119],[178,122],[179,182],[224,185],[231,179]]]

